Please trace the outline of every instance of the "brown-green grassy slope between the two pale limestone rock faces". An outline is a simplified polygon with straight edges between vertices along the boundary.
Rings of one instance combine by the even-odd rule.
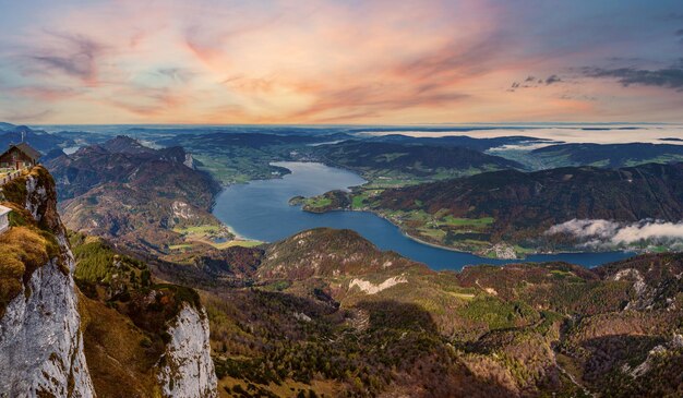
[[[95,390],[104,397],[156,397],[155,365],[168,342],[167,322],[197,294],[155,284],[147,266],[115,252],[99,238],[72,233],[74,279],[85,355]]]

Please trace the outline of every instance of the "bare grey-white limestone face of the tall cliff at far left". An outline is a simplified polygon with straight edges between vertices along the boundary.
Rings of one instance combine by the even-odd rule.
[[[51,229],[60,255],[32,274],[0,319],[0,396],[94,397],[71,277],[75,263],[57,216],[53,183],[43,180],[26,180],[24,205]]]

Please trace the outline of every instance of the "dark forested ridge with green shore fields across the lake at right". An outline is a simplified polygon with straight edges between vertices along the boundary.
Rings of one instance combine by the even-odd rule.
[[[419,240],[514,257],[527,251],[575,248],[585,237],[546,233],[575,219],[609,221],[614,228],[644,220],[679,222],[683,164],[501,170],[396,189],[332,191],[292,202],[314,213],[373,210]]]

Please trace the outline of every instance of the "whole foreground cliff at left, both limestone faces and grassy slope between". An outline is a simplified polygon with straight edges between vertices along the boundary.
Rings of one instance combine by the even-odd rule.
[[[0,397],[216,396],[194,291],[154,284],[100,241],[72,251],[43,167],[0,203],[13,210],[0,234]]]

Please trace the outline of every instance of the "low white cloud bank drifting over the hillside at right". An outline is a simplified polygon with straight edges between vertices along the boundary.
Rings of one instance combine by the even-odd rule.
[[[683,244],[683,221],[640,220],[622,224],[604,219],[572,219],[551,227],[547,236],[568,234],[586,246],[623,246],[634,243]]]

